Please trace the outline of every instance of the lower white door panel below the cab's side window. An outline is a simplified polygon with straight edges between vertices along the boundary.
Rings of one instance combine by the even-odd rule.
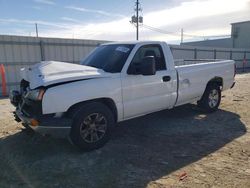
[[[176,100],[176,85],[163,82],[170,72],[159,71],[153,76],[127,75],[122,77],[124,119],[170,108]]]

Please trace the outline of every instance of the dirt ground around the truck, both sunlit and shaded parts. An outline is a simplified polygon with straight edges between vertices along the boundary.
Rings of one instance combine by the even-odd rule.
[[[250,73],[236,80],[215,113],[186,105],[123,122],[88,153],[23,129],[1,99],[0,187],[250,187]]]

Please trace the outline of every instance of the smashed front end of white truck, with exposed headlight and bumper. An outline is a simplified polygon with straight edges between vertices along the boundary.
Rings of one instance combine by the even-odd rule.
[[[66,137],[69,135],[72,120],[64,117],[63,113],[61,116],[42,113],[42,98],[45,92],[44,87],[31,90],[29,82],[22,80],[20,91],[11,91],[9,96],[16,107],[13,112],[15,120],[42,135]]]

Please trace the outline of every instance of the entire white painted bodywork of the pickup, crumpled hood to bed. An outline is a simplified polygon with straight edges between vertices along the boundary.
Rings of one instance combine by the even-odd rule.
[[[42,100],[44,114],[66,112],[79,102],[109,98],[116,105],[118,121],[197,101],[203,95],[209,80],[215,77],[223,79],[223,90],[229,89],[234,82],[234,61],[175,67],[171,50],[166,43],[130,43],[135,44],[135,47],[121,73],[111,74],[69,63],[44,62],[31,67],[31,70],[22,70],[22,77],[30,82],[31,89],[75,81],[48,87]],[[152,76],[128,75],[127,69],[136,51],[149,44],[159,44],[162,47],[167,70],[157,71]],[[163,82],[163,76],[170,76],[171,80]]]

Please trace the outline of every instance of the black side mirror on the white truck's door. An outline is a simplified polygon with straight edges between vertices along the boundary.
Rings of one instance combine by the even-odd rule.
[[[154,56],[144,57],[141,63],[141,74],[144,76],[155,75],[155,58]]]

